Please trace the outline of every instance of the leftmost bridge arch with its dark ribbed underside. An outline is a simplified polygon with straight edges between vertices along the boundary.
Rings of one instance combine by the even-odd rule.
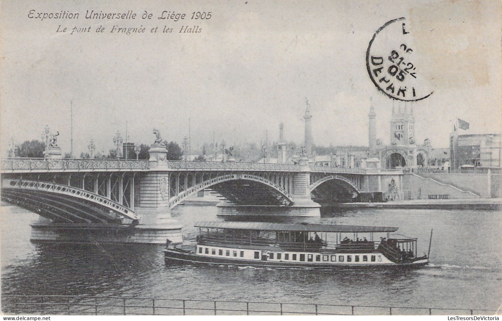
[[[105,223],[120,217],[139,219],[134,210],[106,197],[53,182],[3,179],[2,198],[39,215],[65,222]]]

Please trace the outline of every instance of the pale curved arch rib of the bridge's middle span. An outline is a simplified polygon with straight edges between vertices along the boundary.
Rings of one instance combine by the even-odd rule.
[[[285,189],[283,189],[278,184],[264,178],[261,176],[250,175],[250,174],[224,174],[221,176],[212,177],[209,175],[206,181],[199,183],[186,191],[180,192],[178,195],[173,196],[169,200],[169,208],[172,209],[176,205],[182,203],[187,197],[195,194],[203,189],[215,187],[226,182],[232,181],[249,181],[256,182],[261,185],[268,186],[270,191],[273,191],[273,196],[277,199],[278,205],[288,206],[294,203],[293,196],[290,195]],[[225,196],[225,195],[224,195]]]

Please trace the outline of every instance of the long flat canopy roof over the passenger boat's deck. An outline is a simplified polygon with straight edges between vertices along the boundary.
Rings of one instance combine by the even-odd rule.
[[[397,227],[358,226],[358,225],[327,225],[327,224],[290,224],[262,222],[195,222],[195,227],[211,229],[258,230],[258,231],[297,231],[297,232],[340,232],[340,233],[370,233],[396,232]]]

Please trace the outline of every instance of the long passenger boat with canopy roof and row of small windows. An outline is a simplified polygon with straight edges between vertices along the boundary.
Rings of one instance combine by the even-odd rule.
[[[258,222],[197,222],[194,250],[169,244],[166,262],[276,268],[413,268],[417,239],[391,234],[396,227]],[[431,231],[432,240],[432,231]]]

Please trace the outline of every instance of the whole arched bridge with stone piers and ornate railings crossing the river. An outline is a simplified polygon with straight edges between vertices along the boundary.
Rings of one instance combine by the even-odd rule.
[[[170,210],[204,189],[224,197],[218,214],[229,216],[319,216],[322,204],[386,192],[392,180],[402,193],[399,171],[166,157],[153,144],[148,161],[3,158],[2,200],[40,216],[34,241],[165,244],[182,241]]]

